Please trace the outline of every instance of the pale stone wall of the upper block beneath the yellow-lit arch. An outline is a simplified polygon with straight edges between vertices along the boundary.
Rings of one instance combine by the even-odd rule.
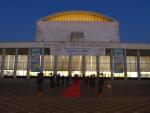
[[[36,25],[36,41],[70,41],[72,32],[83,32],[87,42],[119,42],[118,22],[43,22]]]

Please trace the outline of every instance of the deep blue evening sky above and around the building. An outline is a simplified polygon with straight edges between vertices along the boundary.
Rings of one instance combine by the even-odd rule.
[[[0,0],[0,41],[34,41],[38,19],[66,10],[103,13],[120,22],[121,42],[150,43],[150,0]]]

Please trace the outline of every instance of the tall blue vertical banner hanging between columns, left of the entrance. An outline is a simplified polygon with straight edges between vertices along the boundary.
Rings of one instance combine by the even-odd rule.
[[[31,49],[31,72],[41,71],[40,55],[41,55],[41,49],[39,48]]]

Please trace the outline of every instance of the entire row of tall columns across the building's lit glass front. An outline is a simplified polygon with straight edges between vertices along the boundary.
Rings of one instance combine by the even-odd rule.
[[[140,50],[136,50],[137,52],[137,73],[138,79],[141,79],[141,71],[140,71]],[[126,49],[123,51],[124,53],[124,79],[127,79],[127,57],[126,57]],[[4,68],[5,68],[5,56],[6,56],[6,48],[2,49],[2,61],[1,61],[1,73],[0,77],[4,77]],[[99,56],[96,56],[96,73],[97,75],[100,74],[100,63],[99,63]],[[30,70],[31,70],[31,49],[28,49],[28,58],[27,58],[27,78],[30,78]],[[72,56],[69,56],[68,59],[68,74],[72,74]],[[13,77],[16,78],[17,72],[17,61],[18,61],[18,48],[15,49],[15,62],[14,62],[14,70],[13,70]],[[57,66],[58,66],[58,56],[54,56],[54,74],[57,74]],[[86,73],[86,56],[82,55],[82,68],[81,73],[85,75]],[[41,52],[41,71],[44,70],[44,48],[42,48]],[[114,58],[113,58],[113,49],[110,49],[110,71],[111,71],[111,79],[114,78]]]

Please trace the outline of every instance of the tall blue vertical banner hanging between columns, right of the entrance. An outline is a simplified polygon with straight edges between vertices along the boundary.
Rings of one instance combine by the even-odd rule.
[[[124,71],[123,49],[114,49],[114,72],[123,73],[123,71]]]

